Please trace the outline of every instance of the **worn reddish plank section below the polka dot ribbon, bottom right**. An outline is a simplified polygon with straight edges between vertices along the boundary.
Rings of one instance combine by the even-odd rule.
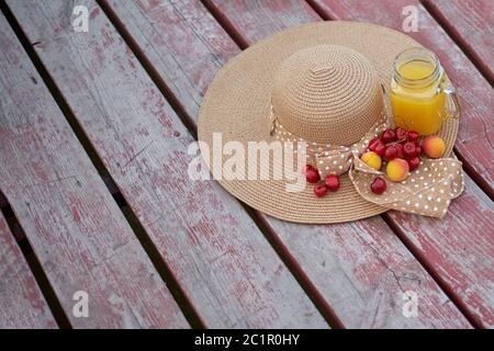
[[[494,203],[470,179],[442,220],[386,214],[476,326],[494,328]]]

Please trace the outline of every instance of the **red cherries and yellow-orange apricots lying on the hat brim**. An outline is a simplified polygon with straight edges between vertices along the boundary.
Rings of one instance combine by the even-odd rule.
[[[368,150],[361,156],[361,160],[369,167],[383,171],[386,178],[393,182],[404,181],[409,171],[414,171],[420,165],[420,156],[440,158],[445,154],[446,144],[437,135],[429,135],[419,141],[419,134],[415,131],[406,131],[402,127],[385,129],[379,137],[369,143]],[[328,191],[339,189],[338,176],[326,176],[321,180],[319,172],[311,165],[303,169],[308,183],[314,183],[314,193],[323,197]],[[382,194],[386,190],[386,181],[377,177],[371,191]]]

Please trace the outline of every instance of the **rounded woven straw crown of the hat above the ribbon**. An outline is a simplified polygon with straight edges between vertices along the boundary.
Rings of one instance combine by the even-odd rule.
[[[319,45],[283,61],[274,77],[272,107],[297,137],[351,145],[378,122],[384,102],[364,56],[345,46]]]

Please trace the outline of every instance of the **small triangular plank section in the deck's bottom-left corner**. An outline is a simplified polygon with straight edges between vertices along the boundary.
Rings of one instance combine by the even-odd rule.
[[[0,329],[57,327],[1,213],[0,276]]]

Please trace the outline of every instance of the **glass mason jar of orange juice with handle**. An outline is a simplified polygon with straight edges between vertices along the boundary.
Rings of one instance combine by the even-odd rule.
[[[395,58],[390,101],[396,126],[420,135],[437,133],[448,115],[448,95],[458,115],[453,87],[434,53],[415,47]]]

